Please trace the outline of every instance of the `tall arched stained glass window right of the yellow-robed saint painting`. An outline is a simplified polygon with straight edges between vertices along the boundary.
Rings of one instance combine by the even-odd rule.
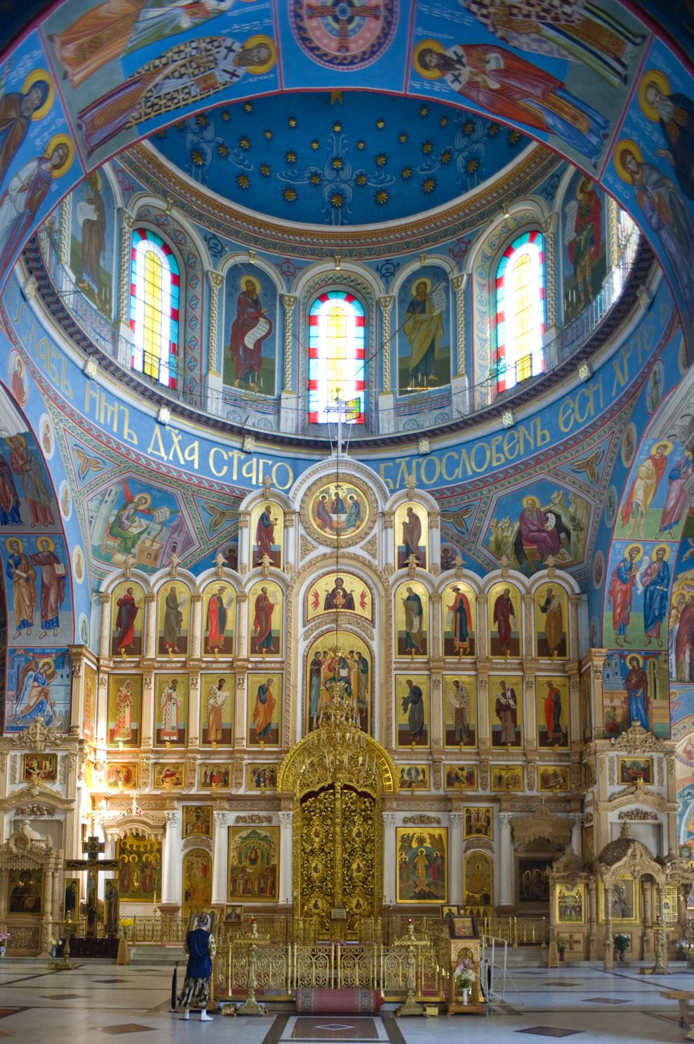
[[[524,232],[497,268],[497,392],[545,371],[545,243],[542,232]]]

